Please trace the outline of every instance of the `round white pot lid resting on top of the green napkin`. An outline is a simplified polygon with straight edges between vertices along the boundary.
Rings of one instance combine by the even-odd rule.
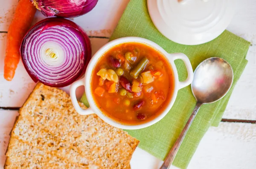
[[[237,0],[148,0],[156,28],[168,39],[198,45],[218,37],[235,13]]]

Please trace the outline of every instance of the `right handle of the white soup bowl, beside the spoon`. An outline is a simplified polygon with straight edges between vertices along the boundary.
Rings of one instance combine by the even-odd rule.
[[[187,79],[183,82],[178,82],[178,90],[190,85],[193,81],[194,73],[193,73],[192,65],[189,61],[188,56],[186,56],[185,54],[182,54],[182,53],[175,53],[175,54],[169,54],[168,59],[173,63],[176,59],[183,60],[185,66],[186,66],[187,72],[188,72]],[[175,63],[174,63],[174,65],[175,65]]]

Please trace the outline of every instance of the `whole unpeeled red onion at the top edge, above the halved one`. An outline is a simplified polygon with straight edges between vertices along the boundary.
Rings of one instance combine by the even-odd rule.
[[[46,17],[79,17],[91,11],[98,0],[30,0]],[[72,1],[72,2],[71,2]]]

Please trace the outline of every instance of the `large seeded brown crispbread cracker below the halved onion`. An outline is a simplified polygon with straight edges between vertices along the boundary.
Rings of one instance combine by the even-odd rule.
[[[19,163],[30,168],[33,161],[45,163],[49,159],[59,159],[58,166],[49,164],[47,168],[130,168],[131,155],[139,144],[127,132],[112,127],[97,115],[79,115],[67,93],[41,83],[36,85],[19,113],[11,132],[11,141],[15,144],[12,141],[8,146],[5,168],[18,168]],[[15,158],[15,150],[21,144],[30,147],[26,152],[31,150],[31,155],[46,153],[48,159],[42,159],[40,153],[25,161]]]

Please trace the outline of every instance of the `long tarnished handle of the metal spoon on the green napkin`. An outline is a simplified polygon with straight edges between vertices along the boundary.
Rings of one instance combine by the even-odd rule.
[[[169,154],[167,155],[165,161],[163,162],[163,165],[160,167],[160,169],[168,169],[172,162],[174,161],[174,158],[180,148],[180,145],[183,141],[183,139],[185,138],[185,135],[187,133],[187,131],[189,130],[189,127],[191,126],[195,115],[198,113],[199,108],[201,107],[202,103],[197,102],[195,105],[195,108],[191,114],[191,116],[189,117],[188,122],[186,123],[186,126],[184,127],[184,129],[182,130],[182,132],[180,133],[180,136],[177,138],[175,144],[172,146],[172,149],[170,150]]]

